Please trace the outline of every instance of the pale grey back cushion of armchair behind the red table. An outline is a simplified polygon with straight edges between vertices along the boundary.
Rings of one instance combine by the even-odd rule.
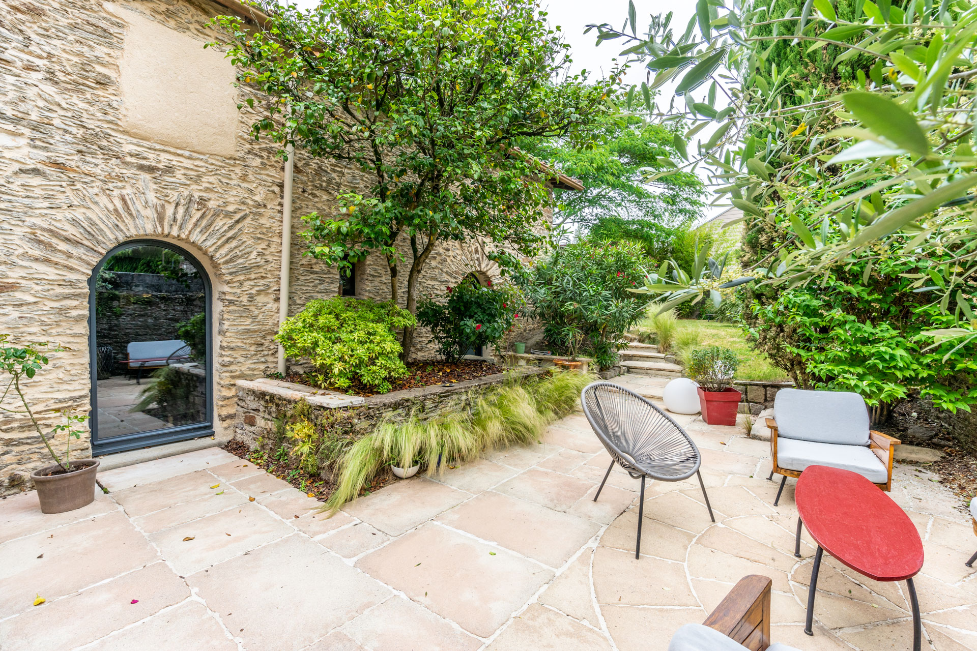
[[[774,399],[778,436],[817,443],[869,444],[869,410],[858,393],[782,388]]]

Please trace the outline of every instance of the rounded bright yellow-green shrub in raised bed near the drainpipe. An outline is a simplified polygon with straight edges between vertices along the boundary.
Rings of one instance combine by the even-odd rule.
[[[334,387],[359,380],[385,393],[390,379],[407,375],[394,331],[414,323],[410,312],[393,303],[336,297],[306,304],[281,324],[275,339],[285,355],[308,358]]]

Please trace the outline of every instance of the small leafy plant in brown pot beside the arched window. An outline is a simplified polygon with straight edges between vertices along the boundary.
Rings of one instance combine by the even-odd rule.
[[[61,513],[66,510],[81,509],[95,499],[95,473],[98,471],[99,462],[95,459],[71,461],[71,439],[81,438],[85,431],[83,425],[88,420],[88,416],[76,416],[64,410],[62,411],[64,423],[56,425],[45,435],[41,424],[37,421],[37,414],[30,408],[21,387],[23,380],[33,378],[48,364],[49,352],[57,352],[63,348],[50,347],[46,343],[23,347],[9,346],[9,338],[9,335],[0,335],[0,371],[10,378],[7,387],[0,393],[0,411],[26,415],[55,461],[50,466],[38,468],[30,473],[30,478],[37,487],[41,511]],[[23,409],[4,407],[3,402],[8,397],[19,400]],[[59,433],[67,434],[64,457],[55,452],[51,445]]]

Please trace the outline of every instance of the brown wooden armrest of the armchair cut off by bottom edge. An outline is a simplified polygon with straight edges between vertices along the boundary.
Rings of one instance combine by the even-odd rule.
[[[750,651],[765,651],[770,646],[771,583],[759,574],[743,577],[702,624]]]

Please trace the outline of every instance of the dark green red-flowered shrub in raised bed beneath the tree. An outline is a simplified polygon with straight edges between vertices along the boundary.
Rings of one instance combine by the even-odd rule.
[[[479,346],[495,346],[512,328],[526,305],[518,288],[507,285],[483,287],[466,278],[437,299],[422,297],[417,305],[417,322],[430,328],[431,342],[446,361],[457,361]]]

